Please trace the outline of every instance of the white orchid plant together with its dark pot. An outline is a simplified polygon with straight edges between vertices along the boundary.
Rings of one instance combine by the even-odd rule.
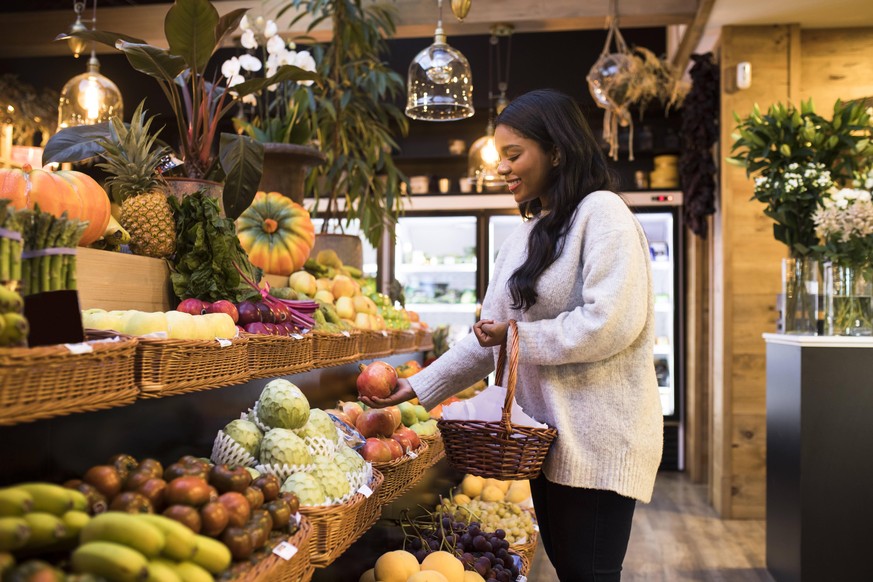
[[[221,66],[233,90],[248,79],[272,77],[282,65],[294,65],[314,73],[315,59],[307,50],[286,43],[273,20],[243,16],[240,44],[246,53],[231,57]],[[264,170],[258,190],[280,192],[303,203],[304,181],[309,166],[324,161],[313,147],[315,108],[314,81],[285,80],[262,86],[243,97],[233,118],[237,131],[264,146]]]

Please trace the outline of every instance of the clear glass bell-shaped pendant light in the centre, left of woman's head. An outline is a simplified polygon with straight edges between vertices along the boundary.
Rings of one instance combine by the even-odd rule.
[[[406,115],[424,121],[456,121],[471,117],[473,74],[460,51],[446,44],[442,0],[434,42],[409,65]]]

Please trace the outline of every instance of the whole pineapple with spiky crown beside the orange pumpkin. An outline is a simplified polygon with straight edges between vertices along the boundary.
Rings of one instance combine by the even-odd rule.
[[[140,103],[134,111],[130,127],[112,118],[111,138],[100,142],[105,151],[98,165],[110,174],[106,187],[121,205],[119,222],[130,233],[131,252],[164,258],[176,248],[176,225],[165,182],[155,169],[170,150],[155,147],[157,135],[149,134],[154,117],[146,120],[142,107]]]

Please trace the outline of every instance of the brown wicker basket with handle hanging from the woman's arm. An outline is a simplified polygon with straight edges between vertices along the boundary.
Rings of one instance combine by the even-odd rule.
[[[499,422],[440,420],[437,426],[442,433],[449,464],[456,470],[503,481],[535,479],[558,431],[510,422],[518,375],[518,328],[514,320],[509,321],[509,327],[509,374],[502,419]],[[506,352],[504,343],[497,359],[498,385],[503,382]]]

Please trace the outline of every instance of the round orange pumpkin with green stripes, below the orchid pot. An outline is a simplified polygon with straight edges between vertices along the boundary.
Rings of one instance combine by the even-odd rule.
[[[252,264],[273,275],[302,269],[315,244],[309,212],[278,192],[258,192],[237,218],[236,233]]]

